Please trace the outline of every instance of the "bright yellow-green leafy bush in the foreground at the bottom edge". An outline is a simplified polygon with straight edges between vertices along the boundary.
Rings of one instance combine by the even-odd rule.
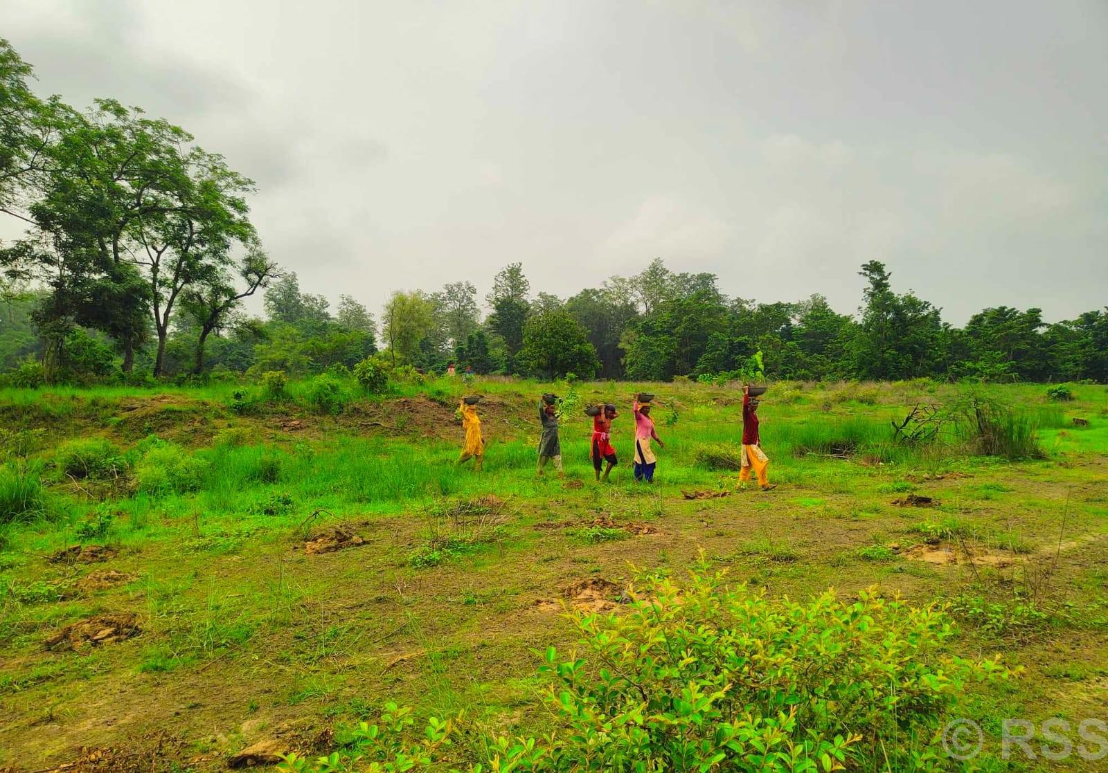
[[[941,732],[966,684],[1009,674],[947,655],[942,609],[869,591],[798,602],[695,574],[684,589],[650,576],[628,592],[626,614],[573,614],[584,652],[546,650],[556,729],[486,739],[471,771],[944,770]],[[448,770],[454,721],[406,741],[413,724],[389,704],[343,752],[278,770]]]

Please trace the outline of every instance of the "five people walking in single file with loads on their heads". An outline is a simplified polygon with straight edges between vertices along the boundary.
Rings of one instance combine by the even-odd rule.
[[[553,398],[553,395],[551,395]],[[649,398],[649,395],[647,395]],[[462,426],[465,430],[465,445],[458,464],[473,460],[478,470],[481,470],[484,461],[484,437],[481,435],[481,419],[478,416],[476,404],[471,404],[462,400],[459,405],[462,416]],[[654,471],[658,460],[654,454],[653,442],[658,443],[658,447],[666,447],[666,444],[658,437],[650,418],[650,403],[640,402],[639,395],[635,396],[632,403],[635,415],[635,451],[633,465],[635,481],[654,483]],[[593,462],[593,471],[597,481],[607,481],[612,474],[612,468],[619,463],[615,446],[612,445],[612,423],[619,416],[619,412],[613,403],[607,403],[603,408],[595,410],[593,416],[593,436],[589,444],[589,457]],[[538,436],[538,475],[543,475],[547,464],[552,464],[558,476],[564,476],[562,468],[562,441],[558,437],[558,418],[553,399],[544,396],[538,403],[538,421],[542,424],[542,434]],[[758,433],[758,398],[750,395],[747,386],[742,388],[742,445],[740,449],[741,466],[739,472],[739,485],[743,486],[750,481],[750,473],[753,472],[758,480],[758,485],[762,491],[776,488],[771,485],[768,476],[769,458],[761,450],[761,437]]]

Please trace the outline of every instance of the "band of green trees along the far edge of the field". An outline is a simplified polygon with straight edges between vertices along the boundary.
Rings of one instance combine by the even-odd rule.
[[[860,270],[856,315],[820,295],[757,302],[712,274],[654,259],[562,299],[532,292],[521,262],[484,298],[469,281],[394,291],[380,323],[342,295],[300,290],[249,219],[254,183],[185,130],[114,100],[74,109],[29,87],[0,39],[0,378],[16,384],[307,375],[372,358],[384,369],[667,381],[771,379],[1108,382],[1108,308],[1046,323],[986,308],[962,327],[885,266]],[[243,311],[264,293],[264,317]],[[755,355],[760,353],[760,358]]]

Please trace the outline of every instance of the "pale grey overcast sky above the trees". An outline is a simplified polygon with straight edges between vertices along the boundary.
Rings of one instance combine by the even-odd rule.
[[[0,0],[0,35],[223,153],[332,301],[661,257],[842,311],[883,260],[956,323],[1108,303],[1105,0]]]

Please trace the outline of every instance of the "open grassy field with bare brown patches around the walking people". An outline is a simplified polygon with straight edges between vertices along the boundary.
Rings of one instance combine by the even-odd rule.
[[[632,480],[640,388],[658,395],[666,442],[654,486]],[[390,700],[542,733],[540,653],[575,641],[560,612],[581,599],[566,589],[619,588],[640,569],[679,578],[701,556],[771,597],[878,586],[950,605],[956,652],[1022,667],[966,697],[989,738],[982,769],[1108,764],[1003,760],[996,740],[1005,718],[1105,719],[1104,386],[1065,403],[1040,385],[987,388],[1044,452],[1008,460],[975,455],[965,427],[893,441],[911,406],[970,388],[777,384],[760,410],[772,492],[736,491],[737,473],[704,462],[740,437],[735,390],[579,385],[626,406],[604,485],[579,412],[562,422],[566,480],[536,477],[546,384],[478,383],[480,473],[453,464],[456,382],[342,389],[335,413],[301,383],[270,401],[232,384],[0,391],[0,770],[224,770],[260,739],[340,745]],[[893,504],[912,495],[931,506]],[[320,537],[342,549],[315,553]],[[47,647],[98,618],[127,620],[125,633]]]

